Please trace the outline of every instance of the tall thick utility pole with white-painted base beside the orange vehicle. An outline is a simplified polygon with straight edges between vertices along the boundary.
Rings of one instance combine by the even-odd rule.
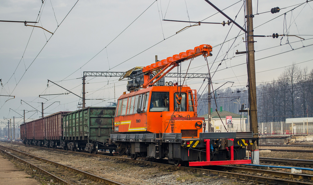
[[[257,115],[257,101],[256,101],[256,84],[255,84],[255,62],[254,62],[254,37],[253,37],[253,13],[252,13],[252,0],[247,0],[247,52],[248,52],[248,82],[249,82],[249,105],[250,105],[250,118],[251,118],[251,131],[253,137],[259,137],[258,132],[258,115]],[[256,142],[253,145],[251,152],[252,164],[259,164],[259,146]]]

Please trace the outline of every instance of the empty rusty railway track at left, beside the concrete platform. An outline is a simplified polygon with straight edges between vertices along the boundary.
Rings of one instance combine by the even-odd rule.
[[[11,152],[6,152],[6,150],[9,150]],[[41,157],[33,156],[31,154],[24,153],[6,146],[0,145],[0,151],[7,156],[12,157],[13,159],[29,165],[29,167],[31,166],[39,172],[43,172],[46,175],[49,175],[50,177],[54,178],[55,182],[61,184],[123,185],[121,183],[95,176],[93,174],[83,172],[73,167],[43,159]]]

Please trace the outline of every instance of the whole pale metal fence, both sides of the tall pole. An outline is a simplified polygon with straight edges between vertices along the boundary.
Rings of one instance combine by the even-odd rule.
[[[268,122],[259,123],[261,135],[313,134],[313,121]],[[229,132],[249,132],[250,125],[244,123],[225,125]],[[213,125],[214,132],[227,132],[223,125]]]

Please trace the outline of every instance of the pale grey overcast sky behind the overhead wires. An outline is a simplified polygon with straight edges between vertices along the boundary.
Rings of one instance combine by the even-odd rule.
[[[212,0],[211,2],[218,8],[224,9],[238,1]],[[235,82],[233,86],[236,87],[245,87],[247,84],[247,68],[244,64],[246,56],[233,58],[236,56],[236,50],[245,51],[245,43],[242,39],[244,32],[240,31],[236,25],[223,27],[221,24],[202,23],[200,26],[193,26],[176,34],[177,31],[190,24],[161,21],[161,19],[202,21],[208,17],[203,22],[227,21],[227,18],[217,13],[204,0],[158,0],[157,2],[153,0],[80,0],[74,6],[76,2],[77,0],[45,0],[43,3],[39,0],[0,2],[0,20],[33,22],[39,20],[36,26],[43,27],[52,33],[55,32],[52,35],[41,28],[24,26],[24,23],[0,22],[0,79],[3,84],[1,95],[15,96],[15,99],[11,100],[8,100],[11,97],[0,96],[0,121],[6,121],[3,117],[13,116],[18,117],[15,121],[23,121],[20,118],[23,110],[27,112],[28,121],[37,119],[41,113],[33,110],[36,108],[41,111],[41,102],[44,102],[45,109],[53,102],[59,101],[46,108],[45,113],[77,110],[81,99],[73,94],[43,96],[45,99],[38,97],[38,95],[66,92],[51,82],[47,87],[48,79],[58,82],[58,85],[81,96],[81,77],[84,71],[127,71],[136,66],[154,63],[155,55],[158,55],[159,60],[166,59],[201,44],[213,46],[213,56],[208,58],[210,65],[217,59],[211,72],[217,67],[218,70],[222,69],[217,71],[212,78],[213,83],[218,83],[213,85],[214,88],[227,81]],[[242,26],[245,21],[243,3],[244,1],[240,1],[223,11]],[[296,5],[299,7],[295,8],[295,4],[298,3],[304,4]],[[263,13],[274,7],[289,8],[281,9],[275,14]],[[255,15],[253,19],[254,35],[285,33],[301,35],[300,37],[305,39],[300,41],[301,39],[290,36],[288,37],[289,45],[286,44],[287,37],[255,38],[257,41],[254,46],[257,85],[276,79],[284,70],[281,67],[292,63],[304,62],[297,65],[301,68],[307,66],[309,70],[313,68],[312,61],[305,62],[313,59],[311,54],[313,47],[309,46],[313,44],[311,40],[313,38],[312,7],[313,3],[305,3],[305,0],[262,0],[259,4],[257,0],[253,0],[253,13],[262,13]],[[292,8],[295,9],[284,16],[284,13]],[[138,18],[139,15],[141,16]],[[279,15],[281,16],[276,18]],[[275,19],[270,21],[273,18]],[[34,25],[34,23],[28,24]],[[121,33],[125,28],[127,29]],[[233,39],[235,37],[237,39]],[[221,48],[225,38],[226,41],[230,41],[225,42]],[[111,42],[113,39],[115,40]],[[302,48],[303,46],[307,47]],[[292,49],[296,50],[290,51]],[[286,51],[290,52],[280,54]],[[268,57],[275,54],[279,55]],[[218,66],[224,56],[226,60]],[[182,63],[182,72],[186,72],[188,64],[189,61]],[[207,73],[208,68],[205,64],[201,56],[194,59],[188,73]],[[177,72],[177,68],[172,70],[172,72],[175,71]],[[172,80],[174,79],[166,79],[166,81]],[[114,84],[116,98],[126,91],[127,81],[118,81],[117,77],[87,77],[86,81],[88,81],[86,99],[106,100],[86,100],[86,106],[105,106],[109,104],[108,102],[113,102]],[[202,82],[203,79],[188,79],[187,85],[202,92],[204,86],[199,90]],[[231,84],[226,84],[223,89],[230,86]],[[8,101],[5,102],[6,100]],[[23,101],[21,103],[21,100],[29,105]],[[0,124],[0,126],[4,125]]]

